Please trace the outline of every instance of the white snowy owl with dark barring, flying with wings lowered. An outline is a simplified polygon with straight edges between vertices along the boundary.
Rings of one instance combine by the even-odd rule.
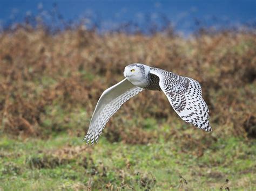
[[[199,129],[212,131],[208,121],[209,110],[198,81],[142,63],[126,66],[124,77],[124,80],[106,89],[100,96],[83,139],[86,143],[97,143],[110,117],[124,102],[144,89],[163,91],[181,119]]]

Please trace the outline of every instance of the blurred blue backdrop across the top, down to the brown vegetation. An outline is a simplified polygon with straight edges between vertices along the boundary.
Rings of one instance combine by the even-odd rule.
[[[1,1],[2,27],[16,22],[36,24],[36,18],[65,29],[74,24],[100,32],[126,30],[150,33],[166,27],[188,34],[198,27],[212,30],[255,27],[255,1]]]

